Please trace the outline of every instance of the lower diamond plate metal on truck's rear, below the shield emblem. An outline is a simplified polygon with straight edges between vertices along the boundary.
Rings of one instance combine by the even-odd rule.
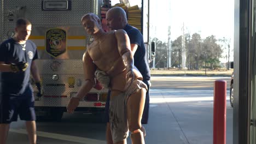
[[[51,69],[51,64],[54,61],[60,63],[57,70]],[[79,91],[80,86],[78,86],[78,82],[82,81],[82,84],[84,82],[83,61],[73,59],[40,59],[39,61],[36,61],[36,64],[38,66],[38,70],[40,71],[40,77],[43,80],[44,95],[59,97],[43,97],[40,101],[36,101],[35,106],[66,106],[70,98],[70,93]],[[58,79],[54,80],[53,75],[57,75]],[[68,86],[69,77],[74,77],[73,88],[69,88]],[[36,86],[34,86],[34,91],[37,92]],[[100,94],[107,93],[107,91],[107,89],[98,91],[97,89],[92,88],[90,93]],[[67,96],[67,98],[60,97],[64,95]],[[79,106],[95,107],[94,102],[91,101],[81,101]]]

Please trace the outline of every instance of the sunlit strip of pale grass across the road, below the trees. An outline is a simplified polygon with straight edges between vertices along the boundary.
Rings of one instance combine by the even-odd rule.
[[[179,69],[150,69],[150,74],[155,76],[231,76],[233,69],[219,70],[179,70]]]

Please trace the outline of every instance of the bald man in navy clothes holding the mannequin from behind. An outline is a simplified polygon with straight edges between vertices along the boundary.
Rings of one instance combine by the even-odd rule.
[[[135,27],[128,25],[126,13],[120,7],[114,7],[109,9],[106,14],[107,25],[109,30],[113,29],[124,29],[130,38],[131,43],[131,51],[134,58],[134,65],[138,68],[139,72],[143,76],[143,82],[146,83],[148,86],[148,91],[146,94],[146,100],[144,105],[144,111],[141,123],[147,124],[148,123],[148,113],[149,113],[149,87],[150,87],[150,69],[148,65],[148,60],[146,56],[146,48],[144,46],[143,36],[141,32]],[[110,93],[110,92],[109,92]],[[107,143],[113,143],[111,132],[109,128],[109,94],[106,103],[106,121],[107,121],[107,130],[106,130],[106,138]],[[142,127],[143,129],[143,127]],[[144,134],[146,135],[146,134]]]

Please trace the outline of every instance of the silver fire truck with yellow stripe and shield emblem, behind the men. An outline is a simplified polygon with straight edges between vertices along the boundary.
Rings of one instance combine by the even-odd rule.
[[[126,8],[131,7],[129,1],[121,3]],[[148,23],[149,4],[144,0],[138,1],[138,4],[141,5],[141,25],[137,27],[142,33],[147,33],[144,39],[148,47],[148,24],[145,23]],[[59,121],[69,99],[79,91],[84,82],[82,57],[86,46],[92,41],[84,31],[80,18],[86,13],[95,13],[103,22],[101,10],[109,7],[109,1],[98,0],[1,0],[0,42],[14,35],[15,21],[19,17],[25,17],[32,23],[30,40],[37,45],[40,59],[36,63],[44,88],[43,96],[38,98],[37,88],[31,80],[38,120],[51,118]],[[107,92],[106,88],[92,88],[76,111],[102,113]]]

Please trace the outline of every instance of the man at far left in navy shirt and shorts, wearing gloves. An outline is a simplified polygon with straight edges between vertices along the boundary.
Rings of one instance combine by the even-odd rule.
[[[38,58],[36,45],[27,40],[31,34],[31,22],[27,19],[16,21],[15,35],[0,45],[0,71],[2,93],[0,95],[0,143],[5,143],[9,125],[18,119],[26,121],[30,143],[36,143],[36,115],[34,97],[30,84],[32,74],[40,94],[42,86],[35,59]]]

